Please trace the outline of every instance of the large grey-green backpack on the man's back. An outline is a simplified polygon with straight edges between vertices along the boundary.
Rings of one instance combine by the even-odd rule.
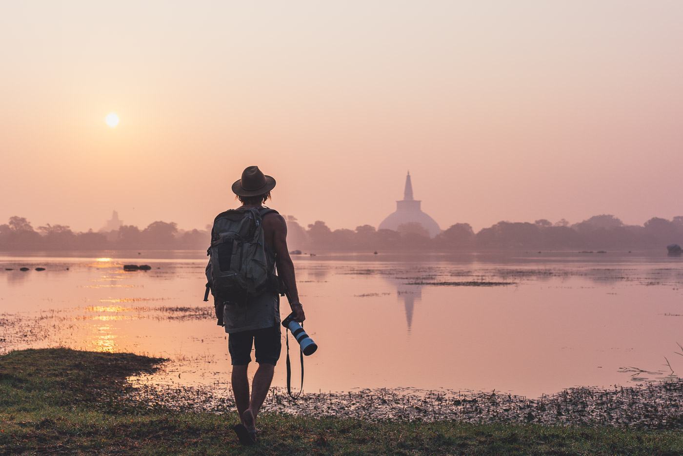
[[[229,209],[214,219],[210,257],[206,265],[206,294],[209,289],[218,301],[247,304],[249,297],[265,291],[277,293],[277,276],[273,273],[264,241],[263,217],[276,213],[273,209]]]

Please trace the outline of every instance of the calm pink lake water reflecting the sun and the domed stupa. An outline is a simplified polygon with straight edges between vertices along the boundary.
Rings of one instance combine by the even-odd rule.
[[[130,351],[171,360],[145,381],[225,386],[226,334],[202,301],[206,260],[195,255],[0,257],[0,353],[57,345]],[[671,373],[665,357],[683,372],[675,353],[683,353],[683,258],[380,254],[294,261],[305,327],[320,346],[306,358],[307,391],[412,387],[537,397],[662,379]],[[152,270],[125,272],[127,263]],[[296,383],[298,355],[293,364]],[[284,344],[274,384],[285,385]]]

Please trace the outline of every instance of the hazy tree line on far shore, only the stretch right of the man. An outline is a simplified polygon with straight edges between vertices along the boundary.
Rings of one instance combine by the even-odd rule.
[[[288,239],[307,248],[320,250],[604,250],[661,248],[683,243],[683,216],[672,220],[653,217],[643,226],[626,225],[614,215],[595,215],[576,224],[565,219],[552,223],[546,219],[530,222],[498,222],[474,232],[470,224],[449,226],[430,238],[415,222],[398,230],[376,230],[370,225],[355,230],[331,230],[324,222],[304,229],[288,217]]]

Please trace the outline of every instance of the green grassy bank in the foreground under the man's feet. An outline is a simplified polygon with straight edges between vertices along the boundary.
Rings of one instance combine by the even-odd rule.
[[[262,414],[238,444],[236,414],[133,399],[126,377],[162,362],[70,349],[0,357],[0,455],[680,455],[676,430]]]

